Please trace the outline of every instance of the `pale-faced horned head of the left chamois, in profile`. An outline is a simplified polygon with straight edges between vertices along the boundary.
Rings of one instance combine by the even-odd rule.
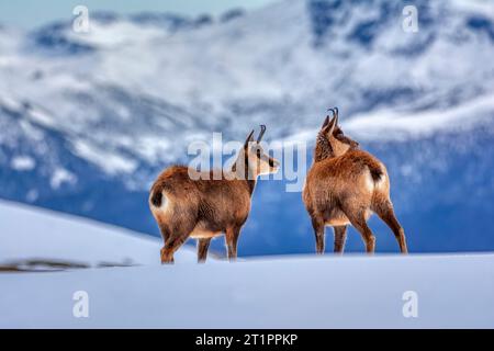
[[[257,139],[254,139],[254,131],[247,136],[244,144],[243,152],[240,152],[245,160],[245,167],[249,171],[248,176],[257,178],[261,174],[276,173],[280,162],[266,154],[260,145],[262,136],[266,133],[266,126],[261,125],[261,131]]]

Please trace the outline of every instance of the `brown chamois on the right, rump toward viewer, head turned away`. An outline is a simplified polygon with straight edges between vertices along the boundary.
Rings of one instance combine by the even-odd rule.
[[[305,208],[316,237],[316,252],[324,253],[325,226],[333,226],[334,251],[345,248],[347,225],[362,236],[367,252],[374,252],[375,237],[367,225],[375,213],[394,233],[402,253],[407,252],[405,233],[396,219],[390,199],[390,179],[384,165],[338,126],[338,109],[330,109],[321,128],[303,190]]]

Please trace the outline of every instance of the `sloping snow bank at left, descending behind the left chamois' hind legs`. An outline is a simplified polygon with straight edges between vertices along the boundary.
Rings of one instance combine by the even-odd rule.
[[[0,267],[159,264],[159,239],[69,215],[0,202]],[[178,262],[195,262],[189,248]]]

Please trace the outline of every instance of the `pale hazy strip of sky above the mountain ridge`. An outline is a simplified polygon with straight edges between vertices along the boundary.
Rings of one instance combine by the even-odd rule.
[[[31,29],[55,19],[71,18],[78,4],[119,13],[139,11],[217,14],[231,8],[260,8],[273,0],[0,0],[0,24]]]

